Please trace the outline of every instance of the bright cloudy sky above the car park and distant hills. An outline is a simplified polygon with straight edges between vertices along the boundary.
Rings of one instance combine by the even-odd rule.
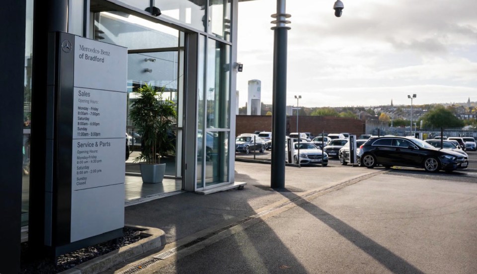
[[[336,107],[477,101],[476,0],[288,0],[287,105]],[[272,103],[276,0],[239,3],[239,106],[261,80]]]

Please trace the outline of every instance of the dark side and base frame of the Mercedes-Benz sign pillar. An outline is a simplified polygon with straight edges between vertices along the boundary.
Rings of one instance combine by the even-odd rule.
[[[57,257],[121,237],[123,229],[71,242],[75,35],[51,32],[48,42],[45,161],[51,169],[45,174],[43,242]]]

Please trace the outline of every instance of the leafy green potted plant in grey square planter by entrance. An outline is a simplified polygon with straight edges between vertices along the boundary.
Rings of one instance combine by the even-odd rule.
[[[174,102],[162,98],[164,87],[146,84],[136,92],[139,96],[131,104],[129,117],[142,135],[142,149],[134,162],[140,162],[143,183],[160,183],[165,172],[160,158],[174,147],[168,133],[177,112]]]

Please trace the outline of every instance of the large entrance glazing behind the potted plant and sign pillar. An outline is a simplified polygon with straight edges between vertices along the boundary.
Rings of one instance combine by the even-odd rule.
[[[175,104],[177,119],[167,133],[174,146],[161,158],[161,163],[166,163],[165,178],[181,179],[185,33],[121,11],[94,13],[92,33],[96,40],[128,48],[126,174],[140,175],[139,163],[133,161],[141,152],[142,136],[129,119],[129,108],[138,96],[135,91],[148,84],[164,90],[162,98]]]

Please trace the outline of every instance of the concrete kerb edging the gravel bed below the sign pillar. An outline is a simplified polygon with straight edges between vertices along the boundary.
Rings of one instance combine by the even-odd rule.
[[[126,228],[141,230],[141,236],[146,238],[135,243],[111,251],[97,258],[84,262],[60,274],[97,274],[110,269],[126,260],[159,250],[165,245],[165,232],[159,228],[125,225]]]

